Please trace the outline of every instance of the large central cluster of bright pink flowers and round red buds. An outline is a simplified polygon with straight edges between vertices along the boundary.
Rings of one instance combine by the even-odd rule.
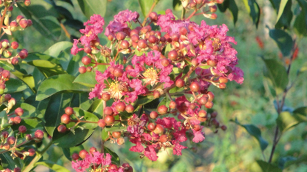
[[[195,4],[197,8],[190,17],[209,3]],[[135,144],[130,151],[155,161],[161,148],[171,148],[174,155],[181,155],[181,149],[187,148],[182,142],[190,136],[193,142],[203,141],[204,127],[212,127],[215,132],[226,130],[218,122],[217,112],[207,114],[215,98],[208,88],[214,85],[226,89],[228,80],[241,84],[244,74],[236,67],[237,51],[231,44],[236,42],[226,35],[226,25],[210,26],[204,21],[197,25],[189,21],[190,17],[176,20],[172,10],[148,16],[142,24],[137,12],[119,12],[104,32],[111,42],[106,46],[100,45],[97,36],[103,32],[104,19],[94,14],[84,23],[86,28],[80,30],[83,36],[75,39],[71,53],[86,52],[82,63],[91,67],[88,72],[95,71],[98,84],[89,98],[112,104],[103,107],[98,126],[126,127],[109,132],[106,140],[121,145],[123,137],[128,137]],[[139,26],[132,28],[132,22]],[[152,30],[151,24],[160,30]],[[98,65],[108,67],[99,72]],[[83,67],[81,73],[86,69]],[[143,109],[140,99],[144,97],[159,99],[156,111]],[[62,118],[64,124],[72,121],[69,116]]]

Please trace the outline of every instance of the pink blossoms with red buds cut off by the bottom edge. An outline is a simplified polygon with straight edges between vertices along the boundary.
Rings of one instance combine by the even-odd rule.
[[[90,153],[85,149],[79,151],[79,153],[72,153],[72,168],[77,172],[83,172],[89,167],[94,171],[110,171],[110,172],[133,172],[132,166],[128,163],[123,163],[121,166],[112,164],[112,156],[109,153],[100,153],[95,147],[90,148]],[[81,160],[80,160],[81,159]]]

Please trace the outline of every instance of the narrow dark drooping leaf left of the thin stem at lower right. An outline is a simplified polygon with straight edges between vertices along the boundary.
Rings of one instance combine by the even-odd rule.
[[[268,141],[264,140],[264,138],[261,137],[261,131],[258,127],[256,127],[255,125],[241,125],[237,120],[237,118],[235,119],[235,121],[233,120],[230,121],[235,122],[237,125],[240,125],[241,127],[244,127],[244,129],[246,129],[246,131],[248,131],[248,133],[250,133],[251,136],[254,136],[260,144],[261,151],[264,151],[266,147],[268,147]]]

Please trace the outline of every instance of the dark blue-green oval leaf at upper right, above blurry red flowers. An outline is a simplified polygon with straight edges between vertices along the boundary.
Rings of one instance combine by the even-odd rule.
[[[293,47],[293,40],[284,30],[270,30],[270,37],[277,43],[279,50],[283,56],[289,56]]]

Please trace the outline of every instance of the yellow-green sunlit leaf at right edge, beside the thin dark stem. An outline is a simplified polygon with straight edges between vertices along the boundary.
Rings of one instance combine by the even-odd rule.
[[[288,111],[282,111],[279,114],[277,125],[281,131],[287,131],[288,129],[299,125],[301,122],[307,122],[307,107],[300,107],[293,111],[293,115]]]

